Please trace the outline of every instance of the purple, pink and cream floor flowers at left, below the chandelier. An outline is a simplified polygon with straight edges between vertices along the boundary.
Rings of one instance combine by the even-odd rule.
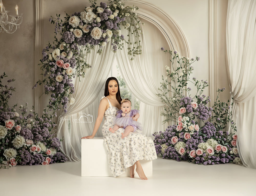
[[[52,122],[56,115],[48,115],[46,110],[42,117],[35,111],[28,112],[27,103],[19,106],[19,112],[8,106],[15,88],[7,80],[2,84],[0,76],[0,166],[16,165],[48,165],[56,162],[66,162],[67,158],[60,152],[60,140],[54,137]],[[2,165],[1,165],[2,164]],[[1,168],[0,167],[0,168]]]

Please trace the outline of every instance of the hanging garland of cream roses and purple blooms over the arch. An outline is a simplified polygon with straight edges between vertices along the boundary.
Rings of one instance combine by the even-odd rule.
[[[96,0],[89,0],[90,7],[82,12],[76,12],[65,20],[51,17],[49,21],[55,24],[55,33],[58,39],[46,46],[42,51],[43,58],[39,66],[44,72],[45,79],[37,84],[44,84],[45,94],[51,93],[48,107],[50,110],[60,110],[60,104],[64,112],[67,112],[70,94],[74,93],[72,83],[75,75],[84,77],[84,71],[91,66],[86,63],[86,55],[95,46],[99,46],[98,53],[102,53],[102,47],[111,42],[113,52],[122,49],[124,43],[128,45],[128,55],[131,60],[135,55],[141,54],[141,43],[137,38],[141,34],[140,20],[134,13],[138,7],[125,6],[117,0],[109,0],[108,4],[101,2],[96,6]],[[121,32],[121,25],[128,30],[127,40]]]

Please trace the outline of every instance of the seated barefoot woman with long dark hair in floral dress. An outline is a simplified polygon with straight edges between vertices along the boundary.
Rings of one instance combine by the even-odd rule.
[[[109,127],[113,127],[113,119],[121,108],[121,95],[118,80],[110,77],[106,80],[104,97],[102,97],[98,109],[98,117],[96,119],[93,133],[90,136],[82,138],[93,138],[100,127],[103,116],[105,118],[102,126],[104,136],[104,144],[108,151],[109,167],[114,177],[126,172],[126,168],[130,167],[130,176],[134,178],[134,168],[142,180],[147,180],[139,160],[156,159],[156,150],[153,140],[146,137],[140,130],[129,134],[124,139],[121,138],[123,128],[119,128],[115,133],[109,131]]]

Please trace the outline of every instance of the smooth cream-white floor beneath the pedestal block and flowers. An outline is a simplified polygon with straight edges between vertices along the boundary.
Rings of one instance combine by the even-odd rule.
[[[256,195],[256,169],[158,158],[153,177],[81,177],[81,162],[0,169],[0,195]]]

